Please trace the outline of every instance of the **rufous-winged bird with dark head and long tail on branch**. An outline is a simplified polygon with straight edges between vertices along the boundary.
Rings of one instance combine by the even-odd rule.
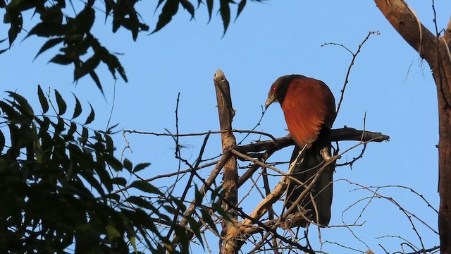
[[[333,93],[321,80],[297,74],[283,75],[271,85],[265,109],[273,102],[278,102],[282,107],[288,131],[295,141],[290,162],[295,161],[299,150],[303,147],[306,149],[303,159],[298,160],[291,176],[308,186],[331,155],[330,128],[336,117]],[[305,186],[296,181],[288,181],[286,208],[295,203],[295,211],[311,210],[313,222],[319,226],[328,226],[333,196],[333,171],[335,162],[328,164],[311,189],[314,200],[307,195],[300,204],[295,201]],[[303,222],[300,226],[306,224]]]

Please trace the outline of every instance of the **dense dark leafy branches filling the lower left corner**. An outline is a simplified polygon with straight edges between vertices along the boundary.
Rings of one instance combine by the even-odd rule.
[[[0,100],[0,253],[138,253],[137,243],[152,253],[176,253],[159,225],[183,236],[168,214],[186,207],[147,181],[122,177],[150,164],[116,159],[112,129],[87,127],[92,107],[76,123],[82,117],[77,97],[68,112],[58,91],[55,99],[41,87],[37,93],[41,114],[15,92]],[[181,244],[186,252],[187,241]]]

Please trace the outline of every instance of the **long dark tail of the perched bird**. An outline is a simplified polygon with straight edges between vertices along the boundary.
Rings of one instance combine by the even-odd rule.
[[[323,167],[325,161],[321,155],[321,150],[326,147],[329,155],[331,155],[331,145],[330,140],[324,136],[319,138],[313,143],[313,145],[305,151],[304,159],[298,160],[295,168],[292,170],[292,176],[295,179],[304,183],[304,186],[299,185],[295,181],[289,181],[288,191],[287,191],[287,207],[294,204],[297,198],[305,190],[307,186],[314,179],[316,174],[318,174],[319,169]],[[290,162],[293,162],[297,155],[299,154],[299,146],[295,146],[295,150],[292,153]],[[333,195],[333,171],[335,170],[335,163],[329,164],[323,171],[321,176],[313,188],[311,188],[311,195],[307,194],[305,198],[297,203],[297,210],[301,207],[303,210],[311,210],[313,216],[311,219],[322,226],[327,226],[330,221],[330,206],[332,205],[332,195]],[[314,199],[311,199],[311,196]],[[304,225],[300,225],[304,226]]]

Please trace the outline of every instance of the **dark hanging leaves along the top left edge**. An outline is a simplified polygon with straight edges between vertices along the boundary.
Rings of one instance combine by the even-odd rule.
[[[116,32],[119,28],[125,28],[131,32],[132,39],[137,40],[140,32],[149,31],[149,25],[143,23],[140,14],[135,9],[137,0],[89,0],[75,16],[68,14],[74,11],[72,8],[73,3],[70,2],[69,8],[67,8],[66,4],[65,0],[0,0],[0,13],[4,13],[4,23],[9,24],[7,35],[9,46],[6,49],[0,49],[0,54],[6,52],[19,33],[25,30],[29,31],[26,37],[36,35],[49,38],[39,49],[36,57],[48,49],[61,44],[59,48],[60,53],[51,58],[50,62],[61,65],[72,64],[74,66],[73,78],[75,81],[89,74],[99,90],[102,91],[101,82],[95,70],[99,63],[104,63],[108,66],[113,78],[116,78],[116,73],[118,73],[126,82],[127,75],[125,75],[125,70],[118,57],[115,54],[111,54],[106,47],[103,47],[99,40],[92,35],[91,30],[96,19],[96,13],[104,13],[106,20],[112,18],[113,32]],[[94,4],[101,4],[102,7],[94,7]],[[201,4],[206,5],[209,18],[211,19],[214,8],[213,0],[206,0],[205,3],[202,0],[159,0],[156,9],[158,10],[161,7],[161,12],[153,32],[157,32],[168,25],[173,16],[178,13],[179,6],[182,6],[193,19],[194,11]],[[232,4],[236,3],[232,0],[218,0],[218,13],[221,14],[223,20],[224,34],[230,24],[230,5]],[[246,0],[241,0],[237,4],[236,18],[242,13],[245,4]],[[39,16],[40,22],[31,29],[24,29],[24,11],[33,11],[35,15]],[[0,40],[1,42],[6,42],[6,40]],[[82,58],[82,56],[84,57]]]

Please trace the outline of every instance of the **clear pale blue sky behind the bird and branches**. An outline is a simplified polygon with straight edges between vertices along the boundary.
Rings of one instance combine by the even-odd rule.
[[[434,31],[432,2],[408,2],[421,22]],[[159,11],[154,14],[152,4],[139,3],[137,6],[152,29]],[[103,6],[99,8],[103,9]],[[442,30],[450,18],[451,2],[436,0],[435,8],[438,30]],[[30,29],[37,17],[27,14],[25,25],[29,26],[25,28]],[[153,35],[142,33],[137,42],[133,42],[130,32],[124,29],[112,34],[111,18],[104,23],[104,14],[100,11],[97,11],[97,17],[93,34],[111,52],[123,53],[119,57],[128,83],[119,79],[115,86],[107,68],[102,66],[98,74],[104,85],[105,99],[89,77],[75,84],[72,67],[47,64],[51,56],[57,54],[56,48],[32,61],[45,40],[37,37],[23,40],[25,34],[21,34],[11,50],[0,55],[1,90],[17,91],[29,99],[35,109],[40,108],[36,95],[38,84],[44,90],[49,87],[59,90],[68,101],[72,97],[70,92],[74,92],[85,102],[85,107],[91,102],[96,109],[95,128],[106,128],[113,107],[112,124],[119,123],[120,128],[126,130],[156,133],[165,133],[165,128],[175,133],[174,111],[180,92],[179,131],[199,133],[219,128],[212,79],[215,71],[221,68],[230,82],[233,107],[237,111],[233,127],[251,129],[261,117],[261,106],[269,87],[280,75],[299,73],[323,80],[338,100],[352,56],[341,47],[321,45],[336,42],[355,52],[369,31],[380,31],[381,35],[370,37],[357,57],[334,128],[362,129],[366,114],[366,130],[390,135],[390,142],[371,143],[352,169],[336,169],[330,224],[338,227],[321,230],[323,242],[333,243],[321,246],[315,237],[316,229],[311,229],[309,234],[315,239],[311,242],[314,249],[322,248],[328,253],[359,253],[335,243],[362,251],[371,248],[375,253],[384,253],[381,246],[390,253],[402,251],[402,248],[406,252],[412,251],[408,246],[401,246],[404,241],[397,236],[421,248],[409,219],[397,206],[375,198],[359,217],[362,207],[369,202],[362,199],[371,197],[372,193],[355,190],[357,186],[340,180],[348,179],[363,186],[408,186],[424,195],[438,210],[438,151],[435,147],[438,144],[438,113],[431,71],[385,20],[373,1],[250,1],[240,18],[230,24],[224,37],[220,16],[214,15],[206,24],[205,6],[197,10],[192,21],[180,7],[180,13],[166,28]],[[0,31],[5,37],[7,26],[0,25]],[[5,96],[4,93],[2,97]],[[281,137],[287,134],[285,128],[282,110],[273,105],[257,131]],[[238,135],[238,140],[242,137]],[[125,150],[125,157],[135,164],[152,162],[151,167],[142,171],[142,177],[177,170],[172,138],[137,134],[127,135],[127,138],[132,152]],[[114,139],[118,156],[121,156],[125,147],[123,136],[118,133]],[[251,135],[243,143],[258,139],[259,136]],[[203,138],[181,139],[186,146],[183,157],[194,162],[202,141]],[[340,149],[344,151],[345,147],[354,144],[340,143]],[[207,145],[204,157],[214,157],[220,152],[220,138],[215,135]],[[291,148],[281,150],[268,162],[287,161],[291,152]],[[352,159],[359,152],[358,148],[352,150],[340,162]],[[240,164],[245,166],[247,162]],[[287,165],[279,168],[286,170]],[[203,169],[202,175],[208,176],[209,170]],[[273,183],[278,179],[274,176]],[[154,184],[169,186],[171,181],[166,179]],[[262,186],[261,182],[259,186]],[[405,188],[381,188],[378,191],[438,231],[436,212],[414,193]],[[245,193],[247,191],[240,190],[240,199]],[[253,191],[241,206],[251,212],[259,200],[257,191]],[[352,206],[355,202],[357,205]],[[356,220],[356,224],[364,225],[350,228],[355,236],[350,229],[340,226]],[[437,234],[417,219],[412,221],[424,247],[438,245]],[[209,246],[216,253],[217,239],[210,238]],[[247,244],[243,250],[251,248],[251,244]]]

